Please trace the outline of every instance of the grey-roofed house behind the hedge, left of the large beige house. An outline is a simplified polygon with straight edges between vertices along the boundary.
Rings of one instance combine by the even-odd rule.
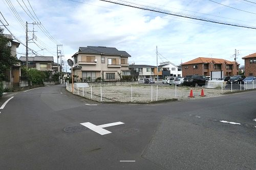
[[[22,65],[26,66],[26,57],[19,57]],[[38,70],[53,70],[53,57],[52,56],[34,56],[28,57],[28,67],[36,68]]]

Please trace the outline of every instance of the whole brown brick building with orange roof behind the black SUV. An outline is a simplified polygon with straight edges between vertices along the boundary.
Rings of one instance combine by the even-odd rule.
[[[218,58],[199,57],[182,63],[182,75],[204,75],[212,79],[223,76],[238,75],[239,64],[236,61],[228,61]]]

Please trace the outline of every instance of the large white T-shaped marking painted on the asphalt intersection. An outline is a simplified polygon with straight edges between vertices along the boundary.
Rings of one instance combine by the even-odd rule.
[[[81,123],[82,126],[85,126],[91,130],[93,130],[94,132],[98,133],[98,134],[101,134],[101,135],[105,135],[105,134],[109,134],[109,133],[112,133],[108,130],[105,130],[103,128],[106,128],[106,127],[110,127],[110,126],[115,126],[115,125],[121,125],[121,124],[124,124],[122,122],[115,122],[115,123],[110,123],[110,124],[104,124],[104,125],[94,125],[90,122],[86,122],[86,123]]]

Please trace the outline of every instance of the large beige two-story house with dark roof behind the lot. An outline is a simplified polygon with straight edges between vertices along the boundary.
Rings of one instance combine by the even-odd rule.
[[[114,47],[87,46],[79,47],[74,58],[73,74],[76,80],[95,79],[104,80],[120,79],[121,75],[130,75],[128,60],[131,57],[125,51]]]

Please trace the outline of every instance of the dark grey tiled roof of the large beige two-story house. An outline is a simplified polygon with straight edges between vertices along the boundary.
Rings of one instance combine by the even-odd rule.
[[[125,51],[119,51],[115,47],[105,47],[105,46],[79,47],[78,52],[93,53],[93,54],[105,54],[105,55],[120,55],[123,57],[131,57],[131,55]]]

